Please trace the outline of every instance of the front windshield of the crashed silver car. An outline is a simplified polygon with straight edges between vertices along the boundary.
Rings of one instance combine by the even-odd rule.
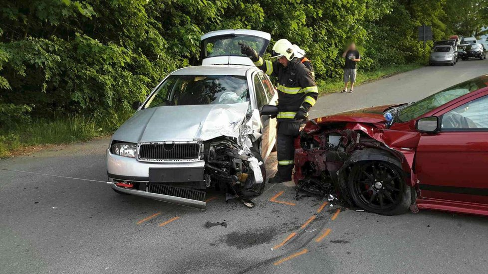
[[[144,108],[235,104],[248,101],[249,88],[245,76],[172,75],[161,84]]]

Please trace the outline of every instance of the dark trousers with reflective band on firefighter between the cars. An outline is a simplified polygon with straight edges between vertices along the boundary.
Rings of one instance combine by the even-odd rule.
[[[293,122],[278,122],[278,131],[276,137],[276,154],[278,157],[278,172],[277,176],[282,178],[291,177],[293,170],[293,158],[295,155],[295,147],[293,140],[298,136],[300,130],[300,123]]]

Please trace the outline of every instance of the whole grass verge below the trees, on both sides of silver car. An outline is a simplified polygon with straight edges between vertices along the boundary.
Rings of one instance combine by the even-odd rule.
[[[377,71],[358,70],[356,85],[419,67],[422,65],[402,65]],[[342,78],[321,81],[318,85],[321,94],[339,92],[344,87]],[[0,128],[0,158],[18,154],[19,151],[29,151],[39,145],[72,143],[107,136],[129,117],[130,114],[119,115],[119,121],[114,122],[113,119],[97,120],[81,115],[69,115],[67,118],[53,121],[37,120],[16,128]]]

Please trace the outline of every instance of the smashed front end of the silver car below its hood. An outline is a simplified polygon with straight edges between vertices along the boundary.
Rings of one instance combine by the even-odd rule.
[[[206,190],[216,188],[227,199],[253,206],[250,198],[262,193],[265,178],[260,121],[256,112],[237,121],[228,128],[228,136],[204,132],[205,140],[139,142],[132,158],[108,149],[111,187],[119,193],[201,209],[206,209]]]

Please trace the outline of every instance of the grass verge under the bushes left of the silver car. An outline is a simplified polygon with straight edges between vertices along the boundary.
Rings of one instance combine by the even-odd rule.
[[[123,116],[121,122],[126,118],[128,116]],[[33,146],[72,143],[106,136],[113,132],[116,124],[119,123],[68,115],[65,119],[37,120],[15,128],[0,128],[0,158],[32,150],[29,148]]]

